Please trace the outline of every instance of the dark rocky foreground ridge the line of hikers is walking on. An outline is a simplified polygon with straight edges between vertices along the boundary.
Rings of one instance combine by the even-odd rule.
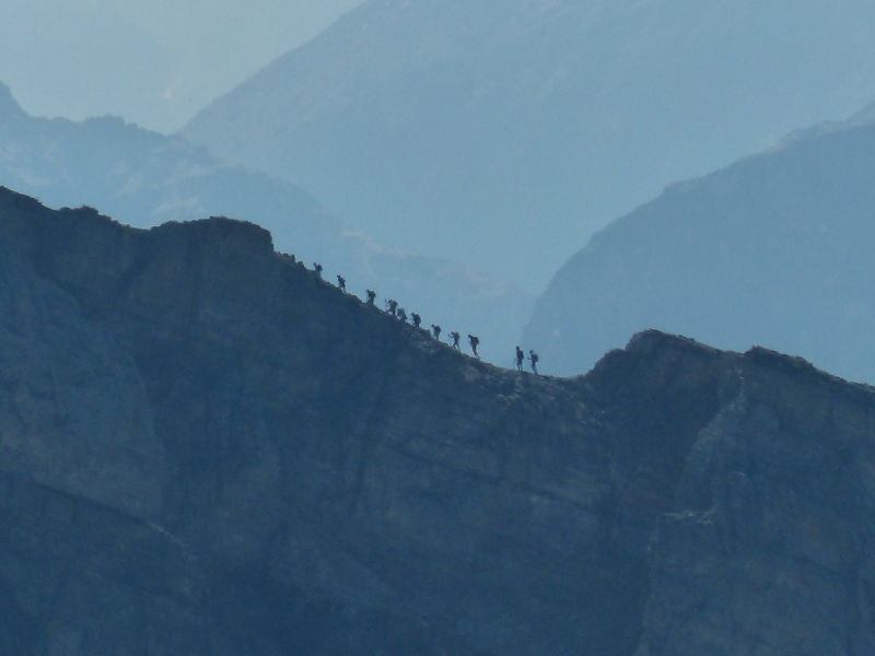
[[[502,371],[224,219],[0,194],[0,646],[867,654],[875,391],[658,332]]]

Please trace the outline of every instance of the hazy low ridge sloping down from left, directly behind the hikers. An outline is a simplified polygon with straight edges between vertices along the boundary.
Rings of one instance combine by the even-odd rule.
[[[346,277],[397,298],[425,325],[482,338],[483,354],[506,361],[530,312],[532,296],[474,267],[389,250],[350,232],[301,188],[240,165],[202,147],[126,124],[33,118],[0,85],[0,184],[49,206],[89,204],[135,226],[228,215],[270,230],[278,248],[294,250],[326,279]]]

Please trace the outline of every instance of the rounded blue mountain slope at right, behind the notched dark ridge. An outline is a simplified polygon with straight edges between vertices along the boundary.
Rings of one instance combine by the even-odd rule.
[[[556,372],[654,327],[875,380],[875,125],[862,119],[800,132],[616,221],[559,271],[525,340]]]

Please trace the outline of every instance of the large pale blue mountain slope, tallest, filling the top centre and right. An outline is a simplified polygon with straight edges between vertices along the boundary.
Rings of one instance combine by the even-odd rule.
[[[183,133],[538,289],[666,184],[875,96],[873,24],[870,0],[371,0]]]

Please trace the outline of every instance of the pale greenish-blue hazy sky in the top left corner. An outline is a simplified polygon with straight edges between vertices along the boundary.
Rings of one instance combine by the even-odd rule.
[[[0,81],[38,116],[172,131],[362,0],[0,0]]]

